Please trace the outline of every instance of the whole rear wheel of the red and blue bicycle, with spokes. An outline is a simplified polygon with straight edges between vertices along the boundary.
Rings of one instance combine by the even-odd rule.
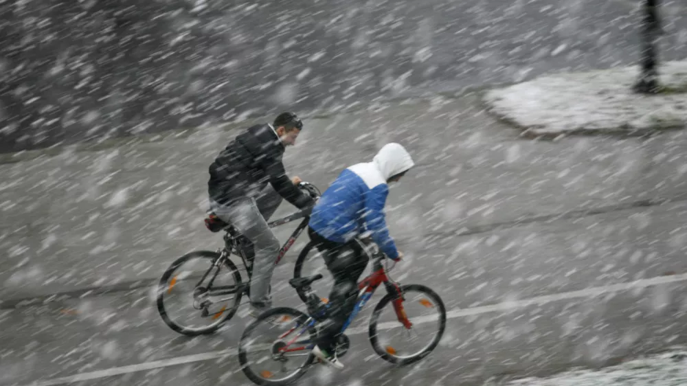
[[[295,308],[267,310],[243,331],[238,345],[241,370],[261,386],[291,385],[313,363],[317,331],[308,315]],[[287,366],[294,366],[287,370]]]

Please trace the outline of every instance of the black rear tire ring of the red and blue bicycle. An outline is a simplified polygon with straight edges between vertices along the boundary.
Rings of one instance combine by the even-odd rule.
[[[272,315],[285,315],[285,314],[291,314],[291,316],[294,317],[294,320],[300,321],[301,323],[305,323],[305,321],[308,319],[308,315],[303,313],[300,310],[297,310],[295,308],[291,307],[277,307],[277,308],[271,308],[270,310],[265,311],[264,313],[260,314],[256,320],[251,322],[245,330],[243,330],[243,334],[241,334],[241,338],[238,341],[238,363],[240,364],[241,371],[243,371],[243,374],[245,374],[253,383],[256,383],[256,385],[260,386],[286,386],[286,385],[291,385],[298,381],[308,370],[308,367],[312,365],[313,361],[315,361],[315,354],[312,352],[308,355],[308,359],[306,359],[306,362],[302,367],[300,367],[297,372],[293,374],[293,376],[289,377],[286,380],[282,381],[269,381],[269,379],[262,378],[261,376],[258,376],[253,370],[251,370],[251,367],[248,363],[248,358],[247,358],[247,353],[245,350],[245,345],[246,345],[246,340],[249,338],[251,332],[255,330],[259,325],[261,321],[264,321],[264,319],[267,319],[271,317]],[[310,334],[311,339],[315,339],[317,337],[317,330],[315,329],[315,326],[312,326],[311,328],[308,328],[308,334]]]

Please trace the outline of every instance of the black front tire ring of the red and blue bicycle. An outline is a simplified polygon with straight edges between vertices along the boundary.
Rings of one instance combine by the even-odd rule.
[[[434,300],[434,304],[438,306],[439,308],[439,314],[440,314],[440,323],[439,323],[439,332],[436,334],[436,337],[432,339],[431,343],[425,350],[422,350],[421,352],[418,352],[417,354],[414,354],[413,356],[409,356],[407,358],[398,358],[397,356],[394,356],[392,354],[389,354],[387,350],[384,350],[379,342],[379,339],[377,338],[377,322],[379,321],[379,315],[383,308],[392,300],[394,300],[394,295],[387,293],[380,301],[377,303],[377,305],[374,307],[374,310],[372,311],[372,315],[370,316],[370,329],[368,330],[368,334],[370,337],[370,343],[372,343],[372,349],[374,349],[374,352],[381,356],[381,359],[384,359],[387,362],[393,363],[394,365],[399,365],[399,366],[405,366],[409,365],[411,363],[415,363],[417,361],[420,361],[420,359],[425,358],[429,353],[431,353],[436,346],[439,344],[439,341],[441,341],[441,338],[444,336],[444,330],[446,329],[446,306],[444,306],[444,302],[442,301],[441,297],[434,292],[431,288],[427,286],[423,286],[422,284],[406,284],[401,286],[401,291],[405,293],[406,291],[418,291],[421,293],[427,294],[429,297],[431,297]]]

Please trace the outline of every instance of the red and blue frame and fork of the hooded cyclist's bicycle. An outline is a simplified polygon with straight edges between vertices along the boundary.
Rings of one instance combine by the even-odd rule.
[[[407,329],[412,328],[412,323],[409,321],[408,316],[405,313],[405,309],[403,308],[403,294],[401,293],[401,287],[398,286],[395,282],[392,282],[392,280],[389,279],[387,275],[387,271],[384,268],[384,266],[381,264],[381,260],[385,259],[385,256],[381,256],[380,258],[375,258],[374,261],[372,262],[374,266],[374,271],[368,275],[368,277],[365,277],[359,284],[358,284],[358,298],[355,304],[355,307],[353,308],[353,312],[351,315],[348,317],[346,320],[346,323],[343,324],[343,327],[341,328],[341,334],[343,334],[344,331],[350,326],[350,323],[357,317],[358,313],[363,309],[365,304],[367,304],[368,300],[374,295],[374,291],[381,285],[384,284],[385,287],[387,288],[387,292],[390,293],[392,296],[396,296],[396,298],[392,301],[394,305],[394,311],[396,311],[396,317],[398,317],[398,321],[403,324],[403,326]],[[307,319],[307,322],[304,323],[304,327],[302,330],[291,340],[286,342],[286,346],[283,348],[280,348],[280,352],[295,352],[295,351],[301,351],[301,350],[312,350],[315,347],[315,344],[312,343],[309,339],[304,340],[304,341],[297,341],[298,337],[300,337],[308,328],[311,328],[315,325],[315,319],[313,317],[309,317]],[[289,331],[284,332],[279,339],[284,339],[286,338],[291,332],[293,332],[298,326],[295,326],[291,328]],[[296,348],[289,348],[290,345],[293,343],[300,344],[300,347]],[[308,343],[310,343],[308,345]]]

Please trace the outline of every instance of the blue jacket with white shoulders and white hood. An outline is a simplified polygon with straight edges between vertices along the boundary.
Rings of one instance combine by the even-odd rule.
[[[370,231],[386,256],[396,260],[398,250],[384,214],[387,180],[413,166],[403,146],[385,145],[372,162],[357,163],[339,174],[313,207],[308,225],[327,240],[341,243]]]

